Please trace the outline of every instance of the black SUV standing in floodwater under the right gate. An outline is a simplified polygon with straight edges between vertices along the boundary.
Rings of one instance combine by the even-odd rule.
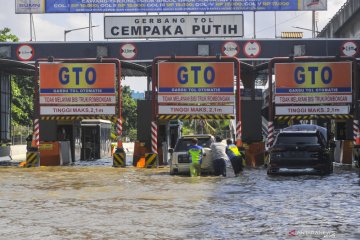
[[[268,175],[280,173],[330,174],[332,151],[319,130],[283,130],[270,149]]]

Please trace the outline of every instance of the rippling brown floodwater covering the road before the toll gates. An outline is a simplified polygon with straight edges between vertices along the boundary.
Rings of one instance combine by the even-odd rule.
[[[0,168],[0,239],[360,239],[360,179],[170,176],[168,168]]]

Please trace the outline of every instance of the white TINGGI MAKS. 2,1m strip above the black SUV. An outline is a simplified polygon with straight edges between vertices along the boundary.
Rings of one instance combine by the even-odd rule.
[[[275,115],[328,115],[349,114],[349,106],[281,106],[275,107]]]

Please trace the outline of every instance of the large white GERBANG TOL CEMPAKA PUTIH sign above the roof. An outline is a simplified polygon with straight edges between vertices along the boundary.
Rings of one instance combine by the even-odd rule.
[[[243,15],[105,16],[106,39],[242,37]]]

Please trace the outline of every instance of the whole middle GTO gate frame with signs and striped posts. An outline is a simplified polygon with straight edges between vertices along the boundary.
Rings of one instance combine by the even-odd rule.
[[[164,138],[158,135],[158,127],[167,121],[180,119],[234,119],[236,142],[238,146],[242,145],[240,61],[237,58],[160,56],[154,59],[153,154],[158,154],[158,140]]]

